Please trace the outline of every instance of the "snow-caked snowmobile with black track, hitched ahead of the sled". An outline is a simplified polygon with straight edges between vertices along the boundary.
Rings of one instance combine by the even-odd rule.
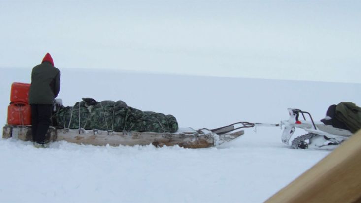
[[[282,142],[291,145],[292,148],[334,149],[353,135],[349,130],[325,125],[322,122],[315,122],[309,112],[293,108],[288,108],[287,110],[290,118],[286,121],[281,121],[281,125],[284,126]],[[301,118],[300,120],[301,115],[303,119]],[[309,120],[306,120],[306,117]],[[289,143],[296,128],[303,129],[307,133],[296,137]]]

